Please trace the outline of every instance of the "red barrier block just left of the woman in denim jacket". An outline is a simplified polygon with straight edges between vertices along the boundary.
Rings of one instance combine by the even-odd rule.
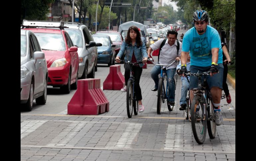
[[[121,65],[111,65],[109,74],[103,82],[103,90],[121,90],[124,84],[125,80],[121,72]]]

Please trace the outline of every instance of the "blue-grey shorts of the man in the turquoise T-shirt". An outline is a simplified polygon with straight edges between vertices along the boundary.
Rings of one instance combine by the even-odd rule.
[[[202,73],[202,72],[209,71],[210,68],[211,68],[210,66],[209,67],[200,67],[200,66],[191,65],[190,72],[197,73],[199,71],[199,73]],[[203,83],[204,78],[206,78],[207,84],[210,89],[212,87],[219,87],[220,89],[222,89],[223,69],[224,69],[223,64],[218,64],[217,69],[219,70],[219,73],[214,74],[213,76],[210,76],[210,75],[202,76],[201,82]],[[198,87],[197,82],[198,82],[198,77],[191,76],[189,89],[197,88]]]

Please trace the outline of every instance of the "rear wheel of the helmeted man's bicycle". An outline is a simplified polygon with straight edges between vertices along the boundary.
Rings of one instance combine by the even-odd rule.
[[[215,134],[216,134],[216,123],[213,120],[212,99],[209,96],[207,96],[207,103],[208,103],[208,107],[207,107],[207,114],[208,114],[207,130],[208,130],[209,137],[211,139],[214,139],[215,138]]]

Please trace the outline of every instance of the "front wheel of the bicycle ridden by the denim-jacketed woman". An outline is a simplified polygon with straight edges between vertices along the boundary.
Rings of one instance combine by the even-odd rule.
[[[132,85],[133,85],[132,80],[128,80],[127,91],[126,91],[126,108],[127,108],[128,118],[132,117],[132,109],[133,109],[133,86]]]

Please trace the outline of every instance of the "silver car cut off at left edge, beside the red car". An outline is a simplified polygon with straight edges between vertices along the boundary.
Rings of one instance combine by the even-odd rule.
[[[35,34],[21,29],[20,35],[20,100],[21,106],[31,111],[34,99],[38,105],[46,103],[48,69],[45,53],[42,52]]]

